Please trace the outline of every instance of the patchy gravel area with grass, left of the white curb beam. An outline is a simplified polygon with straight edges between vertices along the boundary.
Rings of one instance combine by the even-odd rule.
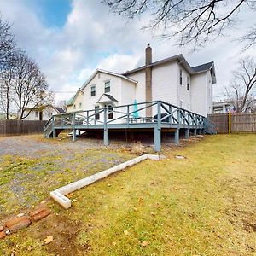
[[[49,192],[135,157],[121,143],[39,135],[0,137],[0,220],[33,207]]]

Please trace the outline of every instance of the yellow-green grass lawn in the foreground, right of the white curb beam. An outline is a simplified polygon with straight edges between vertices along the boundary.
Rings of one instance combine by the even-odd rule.
[[[71,195],[7,255],[255,255],[256,135],[205,137]],[[181,154],[186,160],[179,160]],[[44,245],[46,236],[54,240]]]

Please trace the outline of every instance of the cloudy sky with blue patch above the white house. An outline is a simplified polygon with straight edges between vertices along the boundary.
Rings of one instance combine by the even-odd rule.
[[[172,40],[163,42],[143,32],[147,16],[126,22],[101,0],[0,0],[0,12],[13,24],[20,47],[38,62],[56,92],[56,102],[72,96],[97,67],[122,73],[143,64],[147,43],[153,48],[153,61],[180,53],[191,66],[214,61],[218,81],[214,99],[223,96],[236,61],[243,55],[256,57],[255,49],[241,53],[240,45],[229,38],[229,33],[239,36],[253,24],[250,12],[239,17],[242,26],[192,53],[189,47],[178,48]]]

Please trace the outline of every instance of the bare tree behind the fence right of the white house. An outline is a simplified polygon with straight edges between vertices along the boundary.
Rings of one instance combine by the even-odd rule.
[[[232,72],[233,79],[225,88],[225,95],[234,104],[237,112],[247,112],[255,102],[253,88],[256,87],[256,63],[251,57],[241,59]],[[255,106],[254,106],[255,107]]]

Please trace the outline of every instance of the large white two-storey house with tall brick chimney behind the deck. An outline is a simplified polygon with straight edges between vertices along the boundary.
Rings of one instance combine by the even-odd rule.
[[[97,69],[67,102],[67,112],[107,107],[111,119],[114,106],[160,100],[204,116],[212,113],[213,62],[190,67],[183,55],[153,62],[150,44],[145,59],[144,66],[122,74]],[[143,113],[154,114],[154,108]]]

